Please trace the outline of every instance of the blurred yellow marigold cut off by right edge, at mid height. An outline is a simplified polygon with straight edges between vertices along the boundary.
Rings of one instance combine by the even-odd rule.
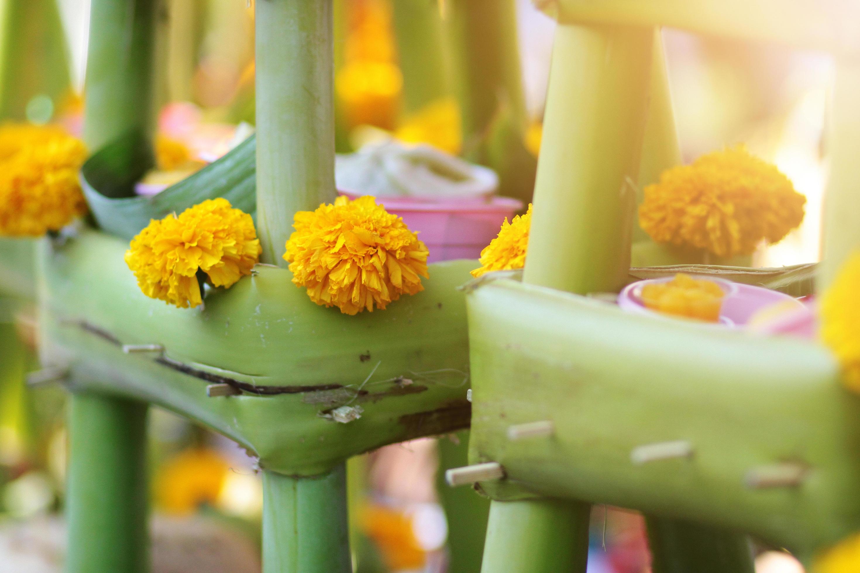
[[[821,338],[842,364],[845,386],[860,393],[860,252],[851,254],[821,297]]]

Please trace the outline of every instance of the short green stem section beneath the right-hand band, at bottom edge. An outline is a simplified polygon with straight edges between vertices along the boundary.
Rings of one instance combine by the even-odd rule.
[[[590,508],[561,499],[492,502],[481,573],[585,571]]]

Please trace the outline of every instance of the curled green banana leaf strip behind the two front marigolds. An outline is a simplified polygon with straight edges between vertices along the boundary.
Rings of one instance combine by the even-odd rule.
[[[130,240],[151,219],[179,213],[206,199],[224,197],[255,215],[256,139],[249,137],[217,162],[151,197],[137,196],[134,184],[154,164],[151,143],[131,132],[108,143],[81,168],[83,193],[101,229]]]

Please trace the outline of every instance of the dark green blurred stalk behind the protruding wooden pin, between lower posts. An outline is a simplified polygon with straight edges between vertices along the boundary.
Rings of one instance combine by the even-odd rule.
[[[447,571],[475,573],[481,570],[490,502],[471,488],[449,487],[445,484],[445,470],[469,463],[469,430],[460,431],[454,436],[458,442],[452,442],[445,436],[437,441],[439,472],[436,489],[448,521],[450,555]]]

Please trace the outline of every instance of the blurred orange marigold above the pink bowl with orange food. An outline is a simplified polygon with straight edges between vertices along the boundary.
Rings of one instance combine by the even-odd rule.
[[[738,146],[665,171],[645,188],[639,223],[654,241],[731,257],[781,241],[805,203],[788,177]]]

